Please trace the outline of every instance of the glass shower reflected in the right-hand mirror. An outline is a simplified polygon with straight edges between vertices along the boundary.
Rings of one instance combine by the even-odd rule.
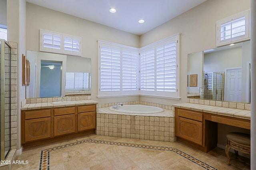
[[[224,72],[203,73],[204,99],[224,100]]]

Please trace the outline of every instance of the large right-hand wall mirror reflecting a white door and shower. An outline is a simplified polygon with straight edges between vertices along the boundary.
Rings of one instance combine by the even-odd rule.
[[[196,87],[190,75],[198,75]],[[187,94],[192,98],[250,103],[250,41],[188,54]]]

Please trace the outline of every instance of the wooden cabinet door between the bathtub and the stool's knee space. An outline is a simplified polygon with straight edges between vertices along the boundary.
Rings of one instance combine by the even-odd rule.
[[[175,123],[176,124],[176,123]],[[177,136],[202,145],[203,123],[177,117]]]

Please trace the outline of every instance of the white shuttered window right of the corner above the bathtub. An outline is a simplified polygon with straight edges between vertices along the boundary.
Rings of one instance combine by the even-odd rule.
[[[140,94],[178,97],[178,34],[140,50]]]

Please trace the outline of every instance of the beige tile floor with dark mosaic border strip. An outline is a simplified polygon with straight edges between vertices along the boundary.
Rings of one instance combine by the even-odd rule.
[[[234,157],[234,154],[231,154]],[[180,142],[89,135],[24,149],[12,170],[248,170],[223,149],[207,154]],[[250,160],[248,160],[249,162]]]

